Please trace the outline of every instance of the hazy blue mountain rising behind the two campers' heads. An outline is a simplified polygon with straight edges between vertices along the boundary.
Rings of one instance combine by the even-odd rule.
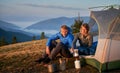
[[[52,18],[44,21],[40,21],[35,23],[31,26],[28,26],[26,29],[39,29],[39,30],[59,30],[62,24],[66,24],[71,26],[74,23],[74,20],[77,19],[76,17],[68,18],[68,17],[58,17]],[[84,22],[89,21],[89,17],[81,17]]]

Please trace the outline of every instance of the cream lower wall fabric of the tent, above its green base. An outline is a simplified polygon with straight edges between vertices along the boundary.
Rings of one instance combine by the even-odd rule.
[[[119,44],[120,41],[117,40],[99,39],[94,58],[100,61],[101,63],[120,60]]]

